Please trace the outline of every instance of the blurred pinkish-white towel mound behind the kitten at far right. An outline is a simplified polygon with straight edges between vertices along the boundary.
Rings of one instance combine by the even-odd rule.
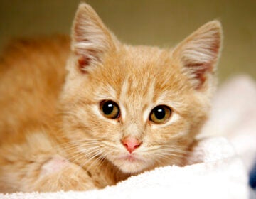
[[[213,99],[210,119],[200,138],[225,136],[235,147],[247,171],[256,163],[256,82],[238,75],[225,82]]]

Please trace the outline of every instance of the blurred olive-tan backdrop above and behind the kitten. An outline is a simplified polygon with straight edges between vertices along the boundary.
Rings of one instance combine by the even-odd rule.
[[[124,41],[174,47],[207,21],[219,19],[224,46],[220,82],[239,73],[256,79],[255,0],[87,0]],[[1,0],[0,49],[13,37],[70,33],[80,0]]]

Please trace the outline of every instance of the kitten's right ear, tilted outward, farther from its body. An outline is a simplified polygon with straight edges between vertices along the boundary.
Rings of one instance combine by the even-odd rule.
[[[213,80],[221,43],[221,24],[219,21],[210,21],[174,48],[173,57],[181,63],[182,70],[195,89]]]

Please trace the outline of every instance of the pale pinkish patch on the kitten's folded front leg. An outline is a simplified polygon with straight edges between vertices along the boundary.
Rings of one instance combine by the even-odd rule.
[[[41,176],[48,175],[50,173],[56,173],[60,171],[61,169],[68,166],[70,162],[61,157],[61,156],[53,156],[48,161],[43,163],[43,166],[41,167]]]

